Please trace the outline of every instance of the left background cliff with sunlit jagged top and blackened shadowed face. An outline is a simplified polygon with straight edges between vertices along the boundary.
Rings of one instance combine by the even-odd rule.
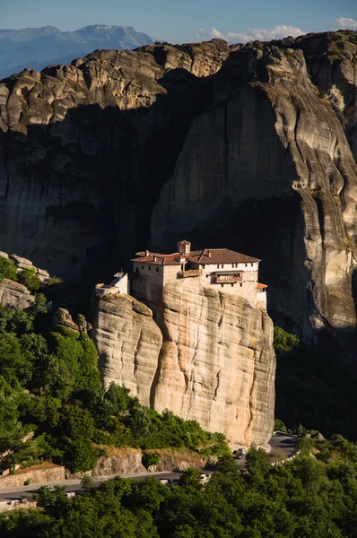
[[[90,265],[97,282],[106,263],[112,271],[129,259],[192,118],[211,98],[206,77],[229,51],[219,39],[99,50],[1,81],[4,250],[59,276]]]

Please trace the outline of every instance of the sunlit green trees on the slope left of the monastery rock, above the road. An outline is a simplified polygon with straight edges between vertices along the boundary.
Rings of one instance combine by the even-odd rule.
[[[229,453],[222,434],[196,421],[154,412],[114,383],[104,391],[94,343],[64,326],[48,331],[46,302],[38,294],[26,310],[0,305],[0,451],[11,451],[0,470],[45,459],[72,473],[89,471],[99,456],[95,443]],[[30,430],[35,438],[23,443]],[[155,454],[147,457],[157,464]]]

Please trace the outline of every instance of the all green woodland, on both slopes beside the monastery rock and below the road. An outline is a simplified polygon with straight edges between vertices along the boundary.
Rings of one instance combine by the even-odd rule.
[[[39,508],[0,515],[2,538],[357,538],[357,446],[333,435],[356,438],[353,374],[275,328],[276,416],[288,429],[302,422],[330,440],[302,435],[300,455],[275,466],[251,447],[240,473],[222,434],[145,408],[125,387],[104,390],[88,334],[53,325],[36,275],[14,276],[11,262],[0,263],[0,279],[12,276],[36,302],[26,310],[0,305],[0,453],[10,450],[0,472],[43,460],[87,471],[109,446],[172,447],[221,459],[205,485],[190,469],[170,487],[154,478],[117,477],[99,487],[88,481],[74,499],[62,487],[43,487]],[[23,443],[30,431],[35,437]],[[144,464],[155,456],[144,453]]]

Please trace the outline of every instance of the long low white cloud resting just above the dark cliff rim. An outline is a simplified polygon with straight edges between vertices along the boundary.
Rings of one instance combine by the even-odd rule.
[[[349,20],[352,21],[352,19]],[[283,39],[286,36],[296,38],[303,33],[305,32],[295,26],[278,24],[274,28],[248,28],[243,33],[228,31],[225,35],[215,28],[200,28],[196,33],[196,38],[200,40],[220,38],[225,39],[229,43],[247,43],[256,39],[259,41],[270,41],[270,39]]]

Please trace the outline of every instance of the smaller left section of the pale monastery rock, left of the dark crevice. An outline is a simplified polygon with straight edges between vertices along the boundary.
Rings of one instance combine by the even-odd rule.
[[[106,295],[95,300],[92,334],[104,385],[115,381],[129,388],[141,404],[150,405],[162,343],[152,311],[126,295]]]

